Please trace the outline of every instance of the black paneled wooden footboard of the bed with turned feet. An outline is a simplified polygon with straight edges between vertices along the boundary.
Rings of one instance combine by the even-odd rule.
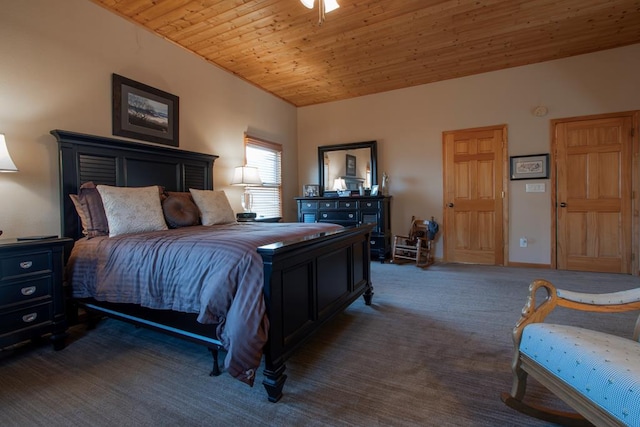
[[[284,362],[296,348],[360,295],[371,304],[371,230],[353,227],[258,248],[270,322],[263,381],[270,401],[282,397]]]

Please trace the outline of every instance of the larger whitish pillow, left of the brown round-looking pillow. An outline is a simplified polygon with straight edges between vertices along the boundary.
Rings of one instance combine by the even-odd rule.
[[[167,230],[160,188],[151,187],[96,187],[102,197],[104,212],[109,223],[109,237],[119,234],[144,233]]]

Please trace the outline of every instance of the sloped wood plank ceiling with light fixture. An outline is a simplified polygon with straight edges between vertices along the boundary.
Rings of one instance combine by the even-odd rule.
[[[91,1],[295,106],[640,43],[640,0]]]

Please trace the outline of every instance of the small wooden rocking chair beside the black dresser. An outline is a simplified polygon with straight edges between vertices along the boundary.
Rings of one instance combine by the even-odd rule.
[[[438,232],[438,224],[431,220],[411,217],[411,226],[407,236],[393,237],[391,262],[401,264],[415,262],[417,267],[425,268],[433,264],[433,239]]]

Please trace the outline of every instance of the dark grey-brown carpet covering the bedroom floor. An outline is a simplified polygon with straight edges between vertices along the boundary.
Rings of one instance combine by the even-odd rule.
[[[208,376],[198,345],[116,320],[0,352],[2,426],[544,426],[507,408],[511,329],[529,283],[611,292],[637,277],[436,264],[372,264],[362,299],[288,362],[284,397]],[[630,336],[635,315],[563,311],[550,320]],[[532,381],[530,397],[562,407]]]

